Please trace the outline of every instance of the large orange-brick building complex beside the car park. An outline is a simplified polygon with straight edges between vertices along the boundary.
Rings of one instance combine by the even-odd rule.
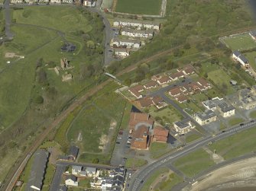
[[[147,113],[131,111],[129,120],[131,148],[146,150],[151,142],[167,142],[169,130],[154,127],[154,119]]]

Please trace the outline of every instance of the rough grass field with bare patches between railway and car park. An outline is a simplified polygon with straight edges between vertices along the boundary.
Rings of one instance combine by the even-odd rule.
[[[83,107],[71,123],[67,140],[76,142],[81,153],[102,154],[104,151],[105,154],[109,154],[112,151],[112,142],[115,142],[115,135],[126,107],[126,100],[113,92],[116,88],[115,83],[105,86]],[[112,102],[113,100],[115,103]],[[79,134],[80,140],[78,140]],[[86,159],[91,158],[84,154],[81,160],[86,161]]]

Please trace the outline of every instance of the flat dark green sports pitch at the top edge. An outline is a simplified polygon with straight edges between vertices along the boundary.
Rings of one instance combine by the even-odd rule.
[[[118,0],[115,11],[130,14],[160,14],[162,0]]]

